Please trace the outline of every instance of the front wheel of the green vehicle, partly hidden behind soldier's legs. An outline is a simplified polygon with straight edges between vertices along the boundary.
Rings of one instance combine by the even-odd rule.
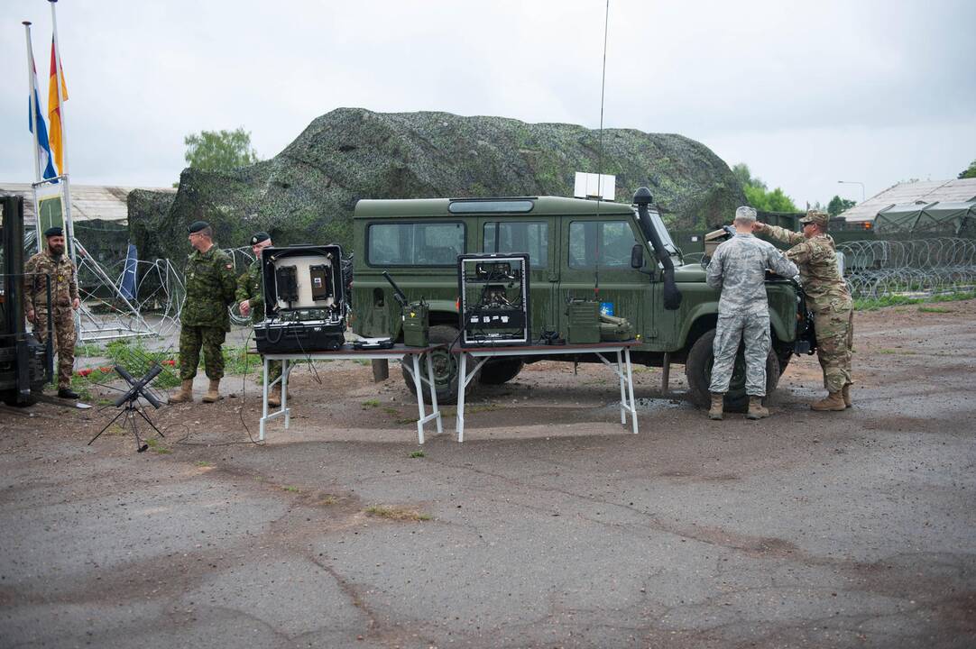
[[[712,383],[712,344],[715,340],[715,330],[705,333],[691,345],[688,357],[684,362],[684,375],[688,380],[688,393],[695,405],[708,408],[712,402],[709,384]],[[766,356],[766,399],[776,389],[780,380],[780,363],[776,359],[776,352],[770,349]],[[742,344],[736,354],[735,367],[732,369],[732,381],[725,392],[726,412],[745,412],[749,408],[749,395],[746,393],[746,354]]]

